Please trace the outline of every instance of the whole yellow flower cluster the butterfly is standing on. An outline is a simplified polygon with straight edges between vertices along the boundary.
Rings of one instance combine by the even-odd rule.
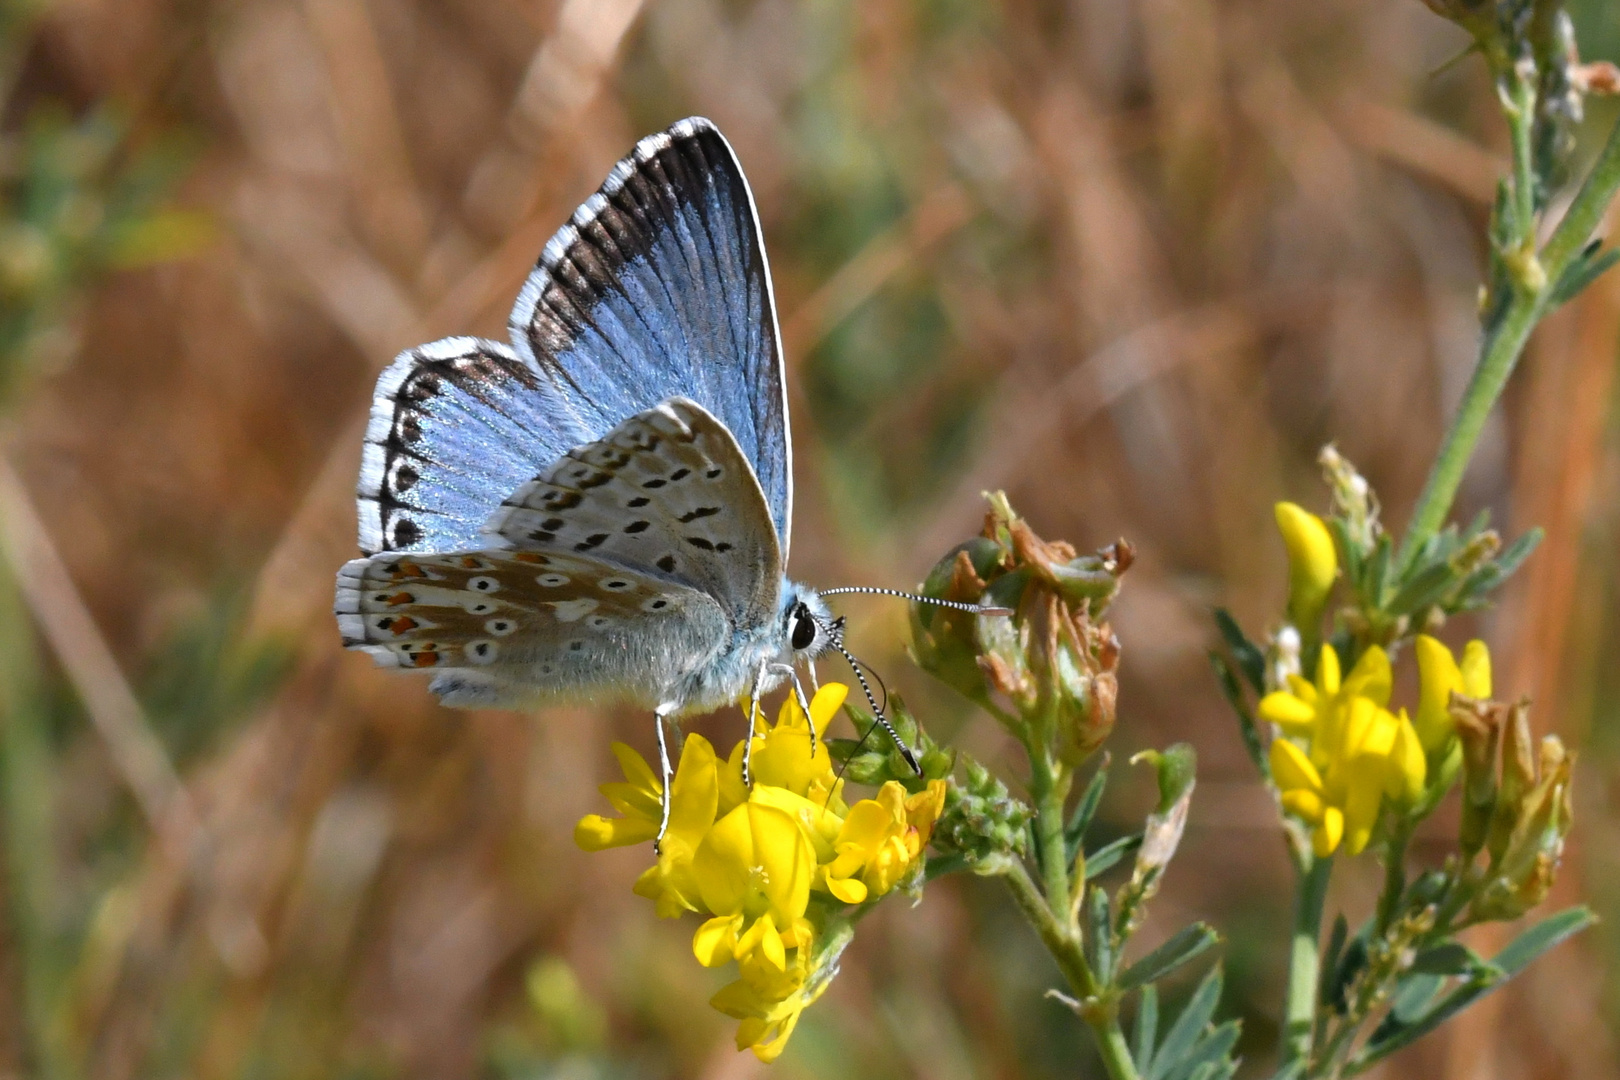
[[[710,916],[692,952],[705,967],[735,960],[739,976],[710,1004],[740,1020],[737,1049],[766,1062],[831,981],[838,949],[820,949],[829,920],[907,881],[944,810],[944,780],[914,795],[891,780],[876,798],[846,806],[820,738],[846,695],[828,683],[808,717],[789,696],[774,727],[757,719],[752,789],[742,782],[744,743],[723,763],[706,738],[688,735],[658,863],[635,882],[661,916]],[[625,779],[601,792],[622,816],[580,819],[573,839],[588,852],[658,832],[663,785],[638,753],[612,750]]]

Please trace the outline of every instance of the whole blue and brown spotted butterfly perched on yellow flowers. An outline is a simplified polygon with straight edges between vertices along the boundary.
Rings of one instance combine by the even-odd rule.
[[[714,125],[637,142],[546,244],[507,329],[405,350],[377,379],[343,644],[433,672],[447,706],[651,709],[667,792],[664,721],[757,708],[784,682],[802,701],[797,669],[828,649],[855,664],[842,620],[786,575],[776,303]]]

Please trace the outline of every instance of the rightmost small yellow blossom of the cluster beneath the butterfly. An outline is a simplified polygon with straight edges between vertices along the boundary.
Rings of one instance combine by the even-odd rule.
[[[883,895],[917,865],[943,811],[944,780],[910,797],[889,780],[876,798],[850,806],[833,845],[838,857],[821,868],[820,884],[844,904]]]

